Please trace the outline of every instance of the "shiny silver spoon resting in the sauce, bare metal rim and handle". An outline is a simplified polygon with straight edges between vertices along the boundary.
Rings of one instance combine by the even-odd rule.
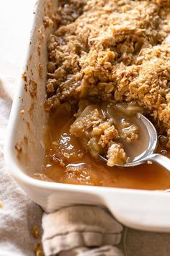
[[[119,167],[132,167],[132,166],[138,166],[142,163],[158,163],[160,166],[163,166],[166,168],[166,170],[170,171],[170,159],[167,158],[164,155],[154,153],[156,150],[156,147],[158,145],[158,135],[156,132],[155,127],[149,121],[145,116],[142,114],[137,114],[137,118],[143,122],[144,127],[146,128],[146,131],[143,132],[148,132],[148,137],[150,140],[148,141],[148,148],[146,148],[145,153],[143,155],[137,155],[136,158],[130,162],[130,163],[125,163],[124,165],[119,165],[115,164],[115,166]],[[99,155],[99,158],[107,163],[107,158],[105,158],[103,155]]]

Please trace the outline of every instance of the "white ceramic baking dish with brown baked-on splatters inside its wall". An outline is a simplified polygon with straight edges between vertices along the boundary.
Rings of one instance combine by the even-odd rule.
[[[9,170],[24,192],[48,213],[66,205],[102,205],[126,226],[170,231],[168,192],[58,184],[32,178],[41,171],[45,153],[46,43],[53,27],[45,27],[44,17],[51,17],[56,4],[53,0],[37,4],[25,69],[27,81],[18,86],[7,129],[5,160]]]

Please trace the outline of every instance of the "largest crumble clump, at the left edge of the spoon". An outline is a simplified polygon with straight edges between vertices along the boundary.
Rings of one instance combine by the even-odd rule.
[[[98,158],[99,153],[106,152],[110,140],[119,137],[112,120],[106,121],[106,117],[92,105],[84,109],[71,125],[70,131],[75,137],[81,137],[84,148],[87,148],[94,158]]]

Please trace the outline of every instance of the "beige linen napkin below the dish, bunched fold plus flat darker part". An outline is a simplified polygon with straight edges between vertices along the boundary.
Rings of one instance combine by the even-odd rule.
[[[109,213],[95,206],[73,206],[44,213],[42,228],[45,256],[57,252],[58,256],[170,255],[170,234],[125,227],[122,233],[122,226]]]

